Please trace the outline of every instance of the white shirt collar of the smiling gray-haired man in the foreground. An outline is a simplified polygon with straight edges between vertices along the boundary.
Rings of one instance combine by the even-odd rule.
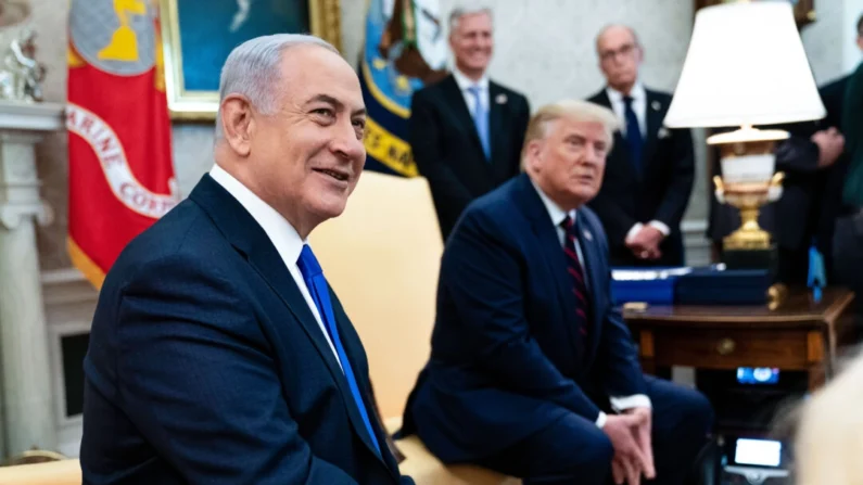
[[[218,165],[213,166],[210,176],[233,195],[237,202],[264,229],[284,264],[288,267],[296,264],[300,252],[303,251],[303,245],[306,242],[300,239],[296,229],[288,222],[288,219]]]

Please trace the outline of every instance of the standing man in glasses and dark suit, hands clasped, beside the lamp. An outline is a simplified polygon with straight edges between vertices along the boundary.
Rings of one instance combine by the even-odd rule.
[[[596,51],[607,86],[591,101],[622,122],[605,182],[589,204],[608,233],[611,265],[683,265],[681,219],[695,179],[691,133],[662,127],[671,94],[638,79],[644,51],[632,28],[604,28]]]

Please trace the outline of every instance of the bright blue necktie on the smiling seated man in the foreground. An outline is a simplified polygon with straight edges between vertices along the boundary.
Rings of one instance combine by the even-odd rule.
[[[332,345],[335,347],[335,353],[339,354],[339,360],[342,362],[342,370],[347,380],[347,386],[351,387],[354,404],[356,404],[356,407],[359,409],[359,416],[363,417],[366,431],[368,431],[371,443],[375,445],[375,450],[378,451],[378,456],[380,457],[381,448],[378,445],[378,438],[371,429],[366,405],[363,403],[359,386],[357,386],[354,371],[351,369],[351,361],[347,360],[347,355],[345,355],[344,347],[342,346],[342,340],[339,337],[339,330],[335,327],[335,317],[332,312],[327,279],[323,278],[323,270],[320,269],[318,259],[315,257],[315,253],[312,252],[312,247],[308,247],[308,244],[303,245],[303,251],[300,253],[300,259],[296,261],[296,265],[300,266],[300,271],[303,273],[303,279],[306,282],[308,292],[312,294],[312,299],[315,301],[315,306],[318,307],[320,318],[323,319],[323,327],[327,328],[327,333],[330,334],[330,340],[332,340]]]

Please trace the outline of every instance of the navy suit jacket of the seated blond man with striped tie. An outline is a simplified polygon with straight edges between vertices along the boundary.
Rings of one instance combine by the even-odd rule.
[[[416,431],[443,461],[491,456],[567,413],[596,421],[609,396],[645,393],[632,336],[612,307],[602,226],[587,208],[576,224],[594,308],[583,352],[561,241],[526,175],[474,201],[453,231],[431,358],[403,431]]]

